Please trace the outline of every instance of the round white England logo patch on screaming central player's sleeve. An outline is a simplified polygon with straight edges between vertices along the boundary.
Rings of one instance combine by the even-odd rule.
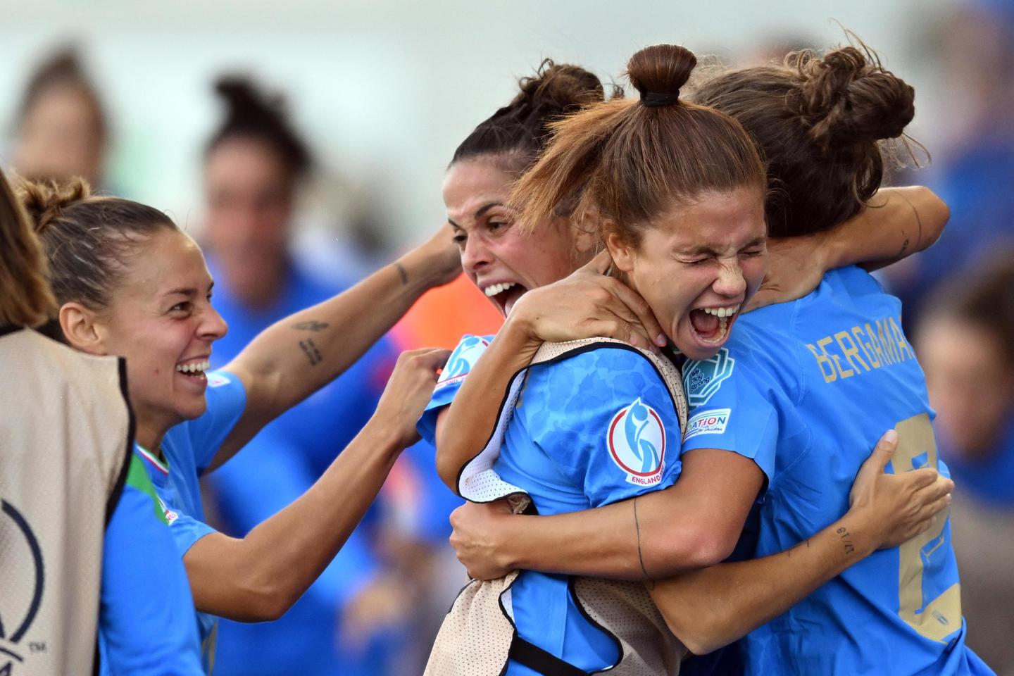
[[[627,481],[655,485],[665,467],[665,426],[655,409],[638,397],[609,423],[609,456],[627,473]]]

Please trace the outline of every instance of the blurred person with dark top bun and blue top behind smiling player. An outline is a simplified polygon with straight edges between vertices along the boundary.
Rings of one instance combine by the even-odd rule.
[[[216,280],[215,304],[229,323],[213,363],[233,359],[259,332],[301,308],[335,296],[355,279],[349,271],[315,276],[292,247],[300,189],[311,153],[293,129],[280,96],[252,81],[224,77],[216,92],[225,115],[205,150],[205,244]],[[335,280],[344,275],[345,284]],[[385,339],[337,380],[267,426],[245,452],[209,475],[223,528],[243,535],[302,495],[373,412],[397,357]],[[445,549],[441,528],[404,515],[417,511],[431,476],[432,448],[410,451],[335,560],[281,619],[270,624],[223,620],[218,674],[381,674],[397,662],[391,634],[406,626],[406,590],[395,584],[402,559],[419,561],[433,545]],[[443,492],[441,492],[441,495]],[[411,507],[407,507],[410,503]],[[420,534],[423,526],[425,533]],[[428,533],[428,534],[427,534]],[[381,551],[376,549],[380,543]],[[348,610],[348,613],[347,613]],[[386,639],[386,641],[384,640]]]

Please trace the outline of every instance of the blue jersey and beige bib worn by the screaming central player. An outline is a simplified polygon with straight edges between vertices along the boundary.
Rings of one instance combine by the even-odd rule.
[[[461,472],[461,494],[484,501],[516,493],[539,514],[560,514],[670,485],[679,473],[684,417],[674,399],[682,400],[674,367],[600,340],[563,344],[552,361],[538,363],[552,349],[545,346],[512,379],[490,444]],[[659,369],[669,373],[672,392]],[[500,629],[490,628],[498,621]],[[472,631],[476,625],[485,627],[482,635]],[[461,662],[473,641],[462,645],[462,636],[498,647],[499,662],[487,666],[501,673],[503,630],[510,643],[511,626],[517,639],[507,674],[539,673],[515,652],[517,645],[564,663],[565,672],[673,673],[683,652],[641,585],[524,571],[513,581],[477,581],[462,592],[427,673],[487,673]]]

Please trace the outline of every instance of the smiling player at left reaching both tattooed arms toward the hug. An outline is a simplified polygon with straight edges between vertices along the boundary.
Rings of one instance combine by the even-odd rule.
[[[299,500],[238,539],[204,523],[198,476],[265,424],[330,382],[426,289],[458,272],[448,233],[345,294],[266,329],[221,371],[207,373],[225,323],[197,244],[164,214],[114,198],[26,184],[50,261],[60,327],[74,348],[126,357],[138,452],[183,555],[199,611],[205,669],[213,615],[282,614],[335,556],[376,496],[446,351],[404,354],[370,422]]]

